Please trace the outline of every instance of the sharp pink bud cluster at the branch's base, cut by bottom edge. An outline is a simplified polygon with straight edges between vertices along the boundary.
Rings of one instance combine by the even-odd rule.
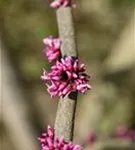
[[[63,137],[55,137],[55,130],[51,127],[48,127],[47,133],[43,133],[38,140],[41,143],[41,150],[82,150],[80,145],[67,143]]]

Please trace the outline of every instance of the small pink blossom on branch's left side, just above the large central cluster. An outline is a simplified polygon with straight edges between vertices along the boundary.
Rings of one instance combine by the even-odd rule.
[[[48,57],[49,62],[56,61],[60,58],[60,46],[61,40],[59,38],[53,38],[52,36],[45,38],[43,43],[46,45],[44,52]]]

